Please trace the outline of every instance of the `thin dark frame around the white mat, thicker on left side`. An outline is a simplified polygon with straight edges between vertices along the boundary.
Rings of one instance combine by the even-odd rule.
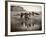
[[[8,2],[44,4],[44,33],[8,35],[8,7],[7,7]],[[41,34],[45,34],[45,3],[42,3],[42,2],[25,2],[25,1],[5,1],[5,36],[24,36],[24,35],[41,35]]]

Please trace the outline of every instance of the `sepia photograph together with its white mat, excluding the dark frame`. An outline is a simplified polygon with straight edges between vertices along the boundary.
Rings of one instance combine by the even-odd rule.
[[[44,4],[8,2],[8,35],[44,33]]]

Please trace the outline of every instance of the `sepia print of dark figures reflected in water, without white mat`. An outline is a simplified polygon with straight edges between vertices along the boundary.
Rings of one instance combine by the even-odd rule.
[[[42,30],[41,6],[11,6],[11,32],[37,30]]]

